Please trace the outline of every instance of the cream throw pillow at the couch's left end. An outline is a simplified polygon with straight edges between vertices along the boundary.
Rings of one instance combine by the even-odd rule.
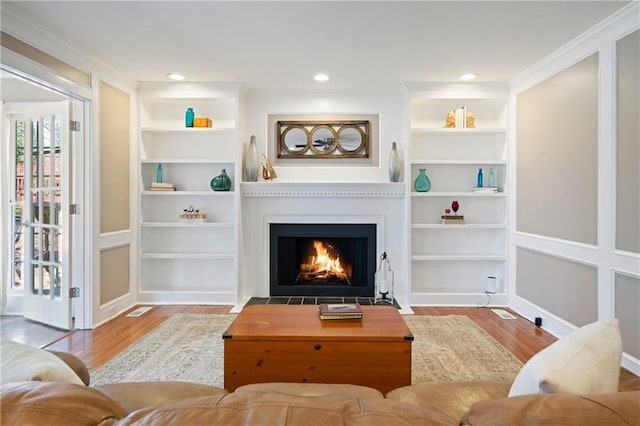
[[[0,356],[0,383],[39,380],[84,385],[71,367],[44,349],[2,339]]]

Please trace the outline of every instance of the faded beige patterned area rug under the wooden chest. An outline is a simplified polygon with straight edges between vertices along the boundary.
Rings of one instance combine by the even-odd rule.
[[[188,381],[223,387],[222,333],[235,315],[174,314],[91,374],[92,385]],[[522,367],[466,316],[403,316],[413,334],[412,383],[511,381]]]

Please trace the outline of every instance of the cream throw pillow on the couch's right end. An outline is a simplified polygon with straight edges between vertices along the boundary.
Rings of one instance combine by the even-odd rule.
[[[621,360],[618,320],[596,321],[534,355],[516,376],[509,396],[617,392]]]

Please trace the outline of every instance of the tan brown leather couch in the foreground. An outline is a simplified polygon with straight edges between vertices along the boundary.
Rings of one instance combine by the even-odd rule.
[[[89,384],[80,360],[58,354]],[[233,393],[194,383],[2,385],[2,425],[640,425],[640,383],[621,391],[507,398],[509,384],[412,385],[383,395],[354,385],[263,383]]]

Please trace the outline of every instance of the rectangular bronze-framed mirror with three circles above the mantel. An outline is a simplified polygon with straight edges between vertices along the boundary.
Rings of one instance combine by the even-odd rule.
[[[278,158],[369,158],[368,120],[277,121]]]

